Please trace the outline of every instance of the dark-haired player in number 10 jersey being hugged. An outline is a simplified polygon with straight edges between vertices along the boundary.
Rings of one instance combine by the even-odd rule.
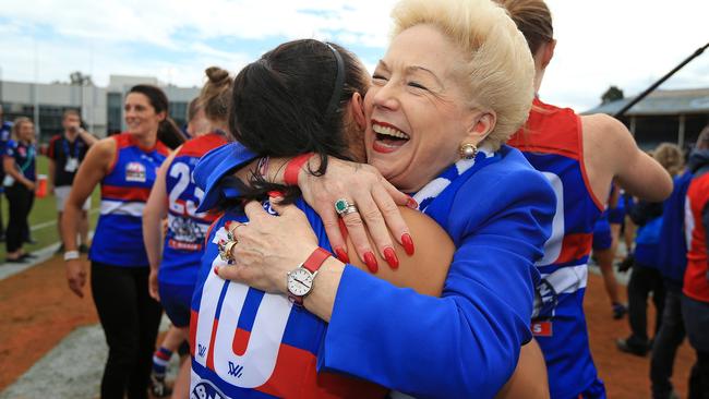
[[[333,94],[335,55],[343,65],[339,94]],[[284,44],[247,66],[237,77],[232,118],[241,119],[250,129],[238,130],[235,138],[243,140],[249,148],[261,154],[295,155],[310,145],[323,154],[362,161],[364,116],[361,107],[362,94],[368,86],[369,76],[364,68],[345,49],[316,40]],[[273,107],[267,121],[263,120],[266,109],[259,110],[263,104]],[[277,134],[267,134],[268,131]],[[225,146],[205,156],[195,171],[195,179],[208,178],[215,169],[214,176],[230,171],[232,157],[227,157],[227,161],[220,165],[208,162],[221,159],[215,155],[229,154],[232,149]],[[326,327],[324,322],[295,306],[286,297],[224,281],[213,271],[214,266],[226,265],[219,255],[224,242],[219,241],[226,240],[229,229],[245,221],[244,208],[232,193],[242,191],[243,196],[262,200],[264,207],[273,209],[273,204],[266,200],[267,193],[269,189],[283,190],[284,186],[265,183],[261,178],[253,179],[259,170],[267,169],[264,162],[255,170],[243,168],[220,181],[214,191],[209,190],[213,195],[217,193],[218,205],[226,208],[226,214],[213,226],[207,238],[192,303],[192,338],[196,346],[192,349],[192,395],[201,397],[201,392],[205,392],[211,397],[216,387],[227,397],[251,397],[261,392],[286,398],[383,397],[386,389],[371,383],[333,373],[316,373],[317,348]],[[293,201],[296,194],[296,191],[289,192],[289,201]],[[312,208],[302,200],[296,203],[308,214],[322,245],[333,251]],[[382,268],[377,276],[426,294],[440,294],[453,244],[433,220],[407,210],[405,217],[412,231],[425,235],[432,244],[420,245],[412,257],[406,256],[398,246],[393,258],[401,258],[400,270]],[[372,270],[361,262],[354,264]],[[421,267],[433,264],[442,267]],[[224,291],[224,299],[219,299]],[[221,309],[218,315],[215,314],[217,309]],[[212,328],[215,317],[219,318],[221,326],[216,330]],[[235,331],[236,336],[232,335]],[[255,389],[244,390],[244,387]]]

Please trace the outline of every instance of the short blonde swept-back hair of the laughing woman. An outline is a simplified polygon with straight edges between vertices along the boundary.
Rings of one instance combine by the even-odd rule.
[[[494,111],[482,144],[497,149],[527,120],[534,97],[534,63],[525,37],[491,0],[401,0],[392,11],[393,36],[428,24],[464,55],[459,66],[470,105]]]

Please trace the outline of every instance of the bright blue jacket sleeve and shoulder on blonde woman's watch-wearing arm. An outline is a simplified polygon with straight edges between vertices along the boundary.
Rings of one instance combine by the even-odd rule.
[[[348,266],[321,366],[416,397],[492,398],[502,388],[531,338],[534,261],[551,234],[555,196],[517,149],[501,153],[434,201],[450,209],[431,216],[457,247],[442,298]]]

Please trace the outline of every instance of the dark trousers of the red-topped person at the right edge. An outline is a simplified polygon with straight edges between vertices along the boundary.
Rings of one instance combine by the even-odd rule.
[[[709,302],[682,295],[682,314],[697,363],[689,376],[689,399],[709,399]]]

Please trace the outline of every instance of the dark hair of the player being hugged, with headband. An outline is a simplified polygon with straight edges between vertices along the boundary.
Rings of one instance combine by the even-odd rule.
[[[335,44],[313,39],[285,43],[244,66],[233,82],[229,130],[233,137],[261,156],[292,157],[315,153],[320,176],[327,156],[350,159],[343,117],[354,93],[368,88],[365,71],[357,58]],[[252,178],[240,188],[245,197],[260,197],[284,188]]]

